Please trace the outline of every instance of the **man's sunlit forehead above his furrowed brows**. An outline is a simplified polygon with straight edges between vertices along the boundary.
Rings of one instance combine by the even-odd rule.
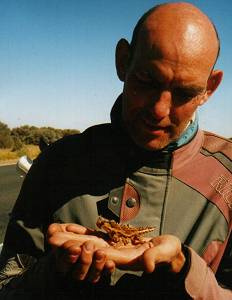
[[[206,72],[212,69],[217,49],[211,47],[213,41],[208,38],[206,41],[198,27],[190,23],[185,30],[174,26],[170,30],[167,27],[157,28],[141,29],[134,51],[135,60],[168,60],[184,68],[200,67]]]

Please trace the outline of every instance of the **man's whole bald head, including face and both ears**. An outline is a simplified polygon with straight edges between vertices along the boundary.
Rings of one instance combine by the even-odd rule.
[[[218,49],[212,22],[183,2],[151,9],[132,43],[118,42],[122,119],[137,145],[158,150],[178,139],[222,80],[223,72],[213,70]]]

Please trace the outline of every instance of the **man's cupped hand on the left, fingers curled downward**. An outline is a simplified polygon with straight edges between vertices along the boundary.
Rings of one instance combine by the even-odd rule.
[[[103,271],[113,272],[115,263],[101,250],[109,247],[108,244],[91,233],[91,229],[76,224],[49,226],[47,239],[54,250],[58,272],[70,272],[76,280],[88,279],[93,283],[100,279]]]

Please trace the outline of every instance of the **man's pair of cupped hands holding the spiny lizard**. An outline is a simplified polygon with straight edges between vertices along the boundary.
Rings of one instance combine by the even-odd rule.
[[[172,235],[147,239],[136,246],[114,248],[94,234],[93,230],[76,224],[49,227],[48,241],[53,248],[60,249],[57,259],[60,271],[72,268],[77,280],[88,278],[96,282],[103,270],[113,272],[115,266],[152,273],[156,266],[168,264],[170,271],[178,273],[185,263],[181,243]]]

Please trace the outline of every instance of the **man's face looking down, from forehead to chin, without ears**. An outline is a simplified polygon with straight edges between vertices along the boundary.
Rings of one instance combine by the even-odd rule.
[[[124,124],[134,142],[158,150],[178,139],[197,107],[206,100],[209,70],[173,41],[153,36],[138,46],[123,89]],[[181,46],[181,45],[180,45]]]

